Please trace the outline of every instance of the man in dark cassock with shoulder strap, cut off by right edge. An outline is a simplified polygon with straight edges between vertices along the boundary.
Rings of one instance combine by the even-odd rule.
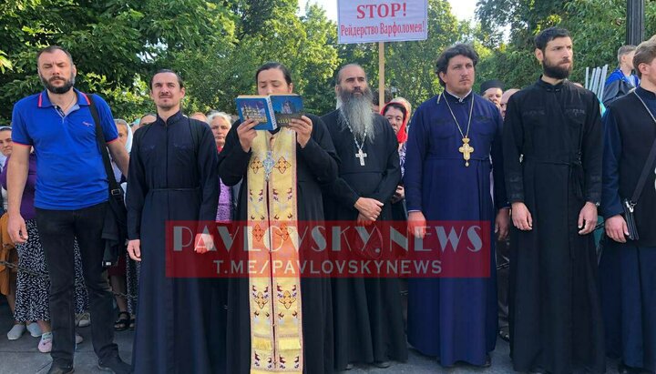
[[[603,117],[604,162],[601,211],[606,235],[600,259],[601,306],[606,352],[620,358],[619,372],[656,372],[656,41],[633,57],[641,84],[608,106]],[[650,162],[649,165],[646,165]],[[629,238],[624,200],[633,198],[638,238]]]

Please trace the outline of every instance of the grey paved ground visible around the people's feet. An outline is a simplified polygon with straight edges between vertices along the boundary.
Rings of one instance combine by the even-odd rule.
[[[12,319],[10,311],[4,298],[0,301],[0,374],[24,374],[39,373],[45,374],[50,368],[50,356],[40,353],[36,349],[38,338],[32,338],[29,334],[24,335],[21,339],[9,341],[6,339],[6,331],[11,329]],[[91,329],[78,329],[77,332],[85,339],[78,347],[76,352],[75,369],[76,373],[95,374],[101,371],[96,368],[96,354],[91,346]],[[130,331],[116,333],[118,349],[121,357],[128,361],[132,357],[132,335]],[[497,350],[492,353],[492,367],[487,369],[471,368],[466,365],[454,369],[442,369],[436,363],[435,359],[426,358],[414,350],[411,350],[410,359],[405,364],[395,364],[389,369],[372,369],[368,367],[356,367],[349,371],[349,374],[406,374],[406,373],[448,373],[448,374],[466,374],[466,373],[511,373],[510,359],[508,358],[508,345],[505,341],[499,339]],[[155,374],[155,373],[154,373]],[[192,374],[192,373],[190,373]]]

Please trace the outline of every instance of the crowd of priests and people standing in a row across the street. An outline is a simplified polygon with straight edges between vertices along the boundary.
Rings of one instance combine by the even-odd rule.
[[[156,112],[115,120],[100,96],[74,88],[73,57],[46,47],[36,58],[46,89],[0,127],[0,259],[21,268],[0,272],[15,319],[7,338],[41,337],[51,374],[74,371],[85,312],[98,368],[115,373],[389,368],[409,347],[436,368],[486,368],[499,337],[519,372],[603,373],[613,357],[620,373],[656,373],[656,37],[620,47],[603,104],[568,79],[567,30],[539,33],[535,56],[534,84],[504,90],[495,79],[477,95],[477,53],[446,48],[436,59],[444,89],[414,113],[403,97],[379,106],[363,67],[347,64],[335,110],[256,130],[224,111],[186,116],[184,82],[167,69],[149,81]],[[262,65],[254,83],[261,96],[294,92],[280,63]],[[128,240],[105,269],[110,177],[126,194]],[[477,266],[488,276],[168,275],[168,221],[257,227],[281,217],[405,221],[416,238],[428,222],[487,222],[489,258]],[[266,239],[253,232],[252,258],[298,258],[291,231],[275,253],[258,250]],[[200,230],[194,243],[199,256],[212,249]],[[114,343],[126,329],[131,364]]]

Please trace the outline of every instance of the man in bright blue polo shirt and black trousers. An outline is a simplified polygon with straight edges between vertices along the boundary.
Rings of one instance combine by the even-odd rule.
[[[75,266],[77,238],[87,284],[93,323],[92,341],[98,368],[128,373],[114,343],[112,294],[103,276],[101,238],[108,205],[108,176],[97,147],[96,127],[88,96],[73,89],[77,74],[73,58],[51,45],[36,56],[46,90],[14,106],[14,152],[8,170],[8,231],[16,243],[27,238],[20,215],[30,150],[36,152],[36,227],[50,274],[50,316],[53,329],[49,374],[73,372],[75,350]],[[124,175],[128,154],[117,142],[118,133],[107,103],[94,96],[109,153]]]

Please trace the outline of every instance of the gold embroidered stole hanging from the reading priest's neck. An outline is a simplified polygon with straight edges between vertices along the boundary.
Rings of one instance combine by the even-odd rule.
[[[302,373],[296,133],[282,127],[270,151],[271,137],[255,136],[248,170],[249,266],[257,271],[249,278],[251,374]],[[295,273],[282,275],[276,263],[294,264]]]

